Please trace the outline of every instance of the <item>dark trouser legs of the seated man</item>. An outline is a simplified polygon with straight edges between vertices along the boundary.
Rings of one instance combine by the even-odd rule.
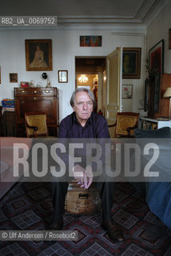
[[[113,182],[95,182],[101,198],[102,218],[110,220],[113,206]],[[52,202],[54,206],[53,222],[63,217],[65,211],[65,200],[68,189],[68,182],[52,182]]]

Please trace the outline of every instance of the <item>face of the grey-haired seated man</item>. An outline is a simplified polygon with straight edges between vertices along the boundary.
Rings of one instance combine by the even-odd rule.
[[[73,110],[79,122],[86,121],[90,117],[93,111],[93,102],[85,91],[79,91],[75,95]]]

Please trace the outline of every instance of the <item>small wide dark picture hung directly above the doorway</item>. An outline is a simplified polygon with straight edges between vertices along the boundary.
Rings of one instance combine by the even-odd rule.
[[[81,35],[80,46],[81,47],[101,47],[102,36],[101,35]]]

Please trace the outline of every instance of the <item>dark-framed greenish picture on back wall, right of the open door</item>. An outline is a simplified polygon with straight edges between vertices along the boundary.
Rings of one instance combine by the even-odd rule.
[[[141,48],[124,47],[122,57],[122,78],[141,78]]]

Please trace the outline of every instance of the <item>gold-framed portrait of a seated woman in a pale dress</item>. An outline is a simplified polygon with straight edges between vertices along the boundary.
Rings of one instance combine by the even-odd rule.
[[[25,40],[26,70],[52,70],[52,40]]]

